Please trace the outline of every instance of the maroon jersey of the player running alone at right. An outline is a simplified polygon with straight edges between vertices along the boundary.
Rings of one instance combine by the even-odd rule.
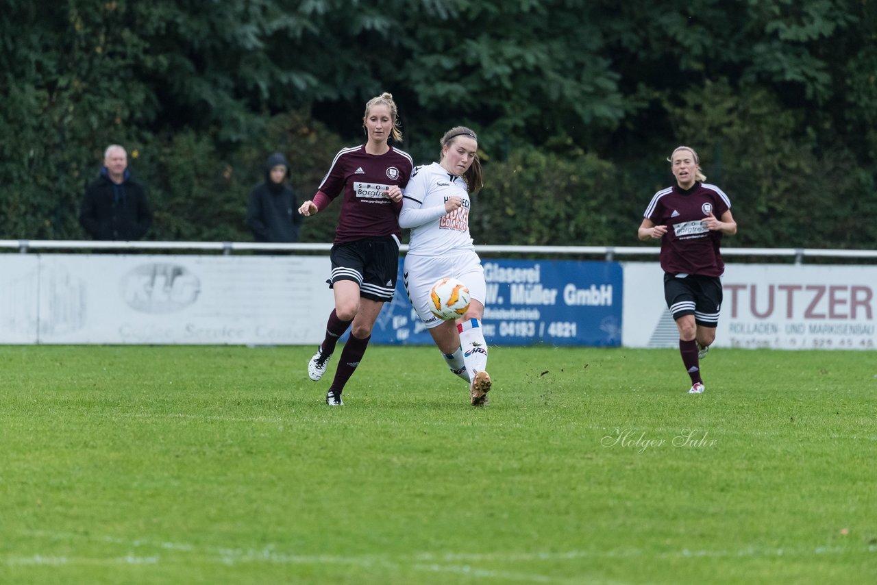
[[[660,240],[660,267],[671,275],[721,276],[724,260],[719,252],[722,232],[710,232],[703,218],[722,218],[731,200],[716,185],[695,182],[691,189],[678,185],[655,193],[645,208],[645,218],[655,225],[667,225]]]

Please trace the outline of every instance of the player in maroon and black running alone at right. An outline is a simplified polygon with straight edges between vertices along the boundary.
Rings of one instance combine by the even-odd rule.
[[[679,353],[691,377],[689,394],[702,394],[700,360],[716,339],[722,305],[722,235],[737,233],[731,200],[705,183],[695,149],[678,146],[670,161],[676,185],[652,196],[639,225],[641,240],[660,239],[664,296],[679,328]]]

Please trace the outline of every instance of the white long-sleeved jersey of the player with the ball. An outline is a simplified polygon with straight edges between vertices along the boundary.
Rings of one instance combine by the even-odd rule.
[[[446,213],[445,202],[451,196],[460,197],[463,204]],[[462,250],[474,252],[469,235],[470,204],[466,182],[438,162],[414,168],[399,214],[399,225],[411,228],[408,254],[434,257]]]

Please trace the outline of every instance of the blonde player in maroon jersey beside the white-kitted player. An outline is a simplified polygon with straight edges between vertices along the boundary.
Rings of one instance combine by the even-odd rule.
[[[329,288],[334,291],[335,308],[326,324],[325,339],[308,362],[310,379],[322,378],[339,337],[353,325],[326,392],[326,403],[332,406],[344,404],[341,391],[366,352],[383,303],[393,300],[402,189],[413,168],[408,153],[388,144],[390,137],[402,140],[391,94],[385,92],[368,101],[362,125],[366,143],[341,149],[317,195],[298,209],[303,216],[312,216],[343,196],[331,253]]]

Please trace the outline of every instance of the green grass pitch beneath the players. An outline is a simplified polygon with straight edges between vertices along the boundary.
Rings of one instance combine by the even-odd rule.
[[[0,582],[877,581],[877,360],[0,347]]]

